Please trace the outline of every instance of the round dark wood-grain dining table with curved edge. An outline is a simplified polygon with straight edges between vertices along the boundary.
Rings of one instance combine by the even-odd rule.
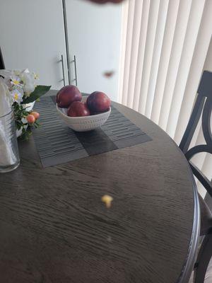
[[[19,168],[0,174],[0,282],[188,282],[200,222],[189,164],[160,127],[114,105],[152,141],[47,168],[33,137],[19,141]]]

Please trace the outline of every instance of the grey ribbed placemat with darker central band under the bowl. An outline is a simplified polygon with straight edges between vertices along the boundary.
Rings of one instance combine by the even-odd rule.
[[[33,137],[44,167],[151,141],[114,106],[107,122],[90,132],[70,129],[59,117],[54,97],[42,97],[34,110],[40,112],[42,126],[33,129]]]

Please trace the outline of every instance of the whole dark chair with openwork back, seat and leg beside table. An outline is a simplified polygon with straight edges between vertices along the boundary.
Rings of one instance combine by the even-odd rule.
[[[211,134],[211,110],[212,110],[212,73],[204,71],[199,83],[198,96],[194,104],[192,115],[189,119],[187,129],[184,132],[179,148],[183,151],[196,178],[206,188],[208,195],[212,197],[212,183],[206,176],[192,163],[191,158],[198,153],[207,152],[212,154],[212,134]],[[196,126],[202,113],[202,129],[206,144],[196,145],[189,149]],[[212,169],[211,169],[212,170]],[[204,283],[208,263],[212,258],[212,214],[206,202],[199,195],[201,208],[201,236],[204,240],[201,243],[196,264],[194,266],[194,282]]]

